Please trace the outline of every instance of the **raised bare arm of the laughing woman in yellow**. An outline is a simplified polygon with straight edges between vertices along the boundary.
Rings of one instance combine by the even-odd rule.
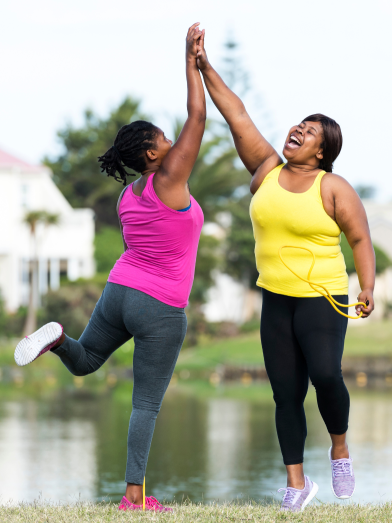
[[[251,191],[256,192],[268,172],[283,160],[252,122],[242,101],[211,66],[204,49],[204,32],[197,48],[197,65],[212,101],[229,124],[241,160],[254,176]]]

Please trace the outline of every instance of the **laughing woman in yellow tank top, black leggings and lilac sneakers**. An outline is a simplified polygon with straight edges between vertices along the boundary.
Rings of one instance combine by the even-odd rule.
[[[303,281],[309,279],[313,253],[311,280],[347,305],[348,277],[340,249],[343,231],[353,250],[362,289],[358,301],[367,304],[358,305],[356,313],[366,318],[373,311],[375,256],[366,213],[350,184],[332,174],[342,147],[340,127],[321,114],[294,125],[284,144],[284,163],[209,63],[204,35],[197,60],[208,92],[229,124],[238,154],[252,175],[250,214],[257,285],[263,292],[261,342],[287,469],[282,509],[303,510],[318,490],[303,472],[303,403],[309,378],[331,436],[332,490],[340,499],[349,498],[355,488],[346,443],[350,399],[341,372],[347,318],[336,312],[317,288]]]

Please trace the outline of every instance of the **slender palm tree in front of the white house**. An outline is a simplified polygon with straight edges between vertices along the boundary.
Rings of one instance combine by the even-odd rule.
[[[37,245],[37,225],[39,223],[49,227],[57,225],[59,221],[58,214],[51,214],[46,211],[30,211],[24,217],[24,223],[29,226],[30,237],[33,245],[31,282],[29,294],[29,307],[27,312],[26,323],[24,327],[24,336],[31,334],[37,328],[37,302],[38,302],[38,245]]]

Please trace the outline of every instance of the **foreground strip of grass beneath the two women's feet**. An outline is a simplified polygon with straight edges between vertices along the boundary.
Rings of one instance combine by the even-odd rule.
[[[202,505],[187,503],[173,505],[173,513],[120,512],[111,503],[77,504],[73,506],[20,505],[0,507],[0,520],[7,523],[106,523],[115,521],[170,521],[172,523],[228,523],[248,521],[275,523],[295,521],[303,523],[361,522],[386,523],[392,520],[392,504],[364,505],[328,504],[309,506],[303,512],[280,512],[279,505],[223,504]]]

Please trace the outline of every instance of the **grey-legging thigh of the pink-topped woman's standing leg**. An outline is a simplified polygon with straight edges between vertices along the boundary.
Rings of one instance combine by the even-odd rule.
[[[185,338],[187,318],[184,309],[132,291],[126,323],[135,339],[133,406],[158,412]]]

